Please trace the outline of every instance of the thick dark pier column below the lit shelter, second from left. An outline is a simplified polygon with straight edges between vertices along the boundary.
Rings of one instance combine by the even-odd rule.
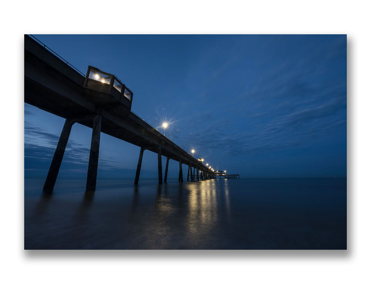
[[[90,145],[88,178],[86,179],[86,191],[94,191],[96,175],[98,172],[99,142],[101,141],[102,116],[97,114],[93,119],[92,142]]]

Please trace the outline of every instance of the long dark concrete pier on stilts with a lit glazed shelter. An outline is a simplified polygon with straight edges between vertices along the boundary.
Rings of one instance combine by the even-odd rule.
[[[101,132],[140,147],[135,184],[139,181],[145,150],[158,155],[159,184],[162,184],[161,156],[167,157],[165,183],[170,159],[179,162],[178,181],[183,182],[182,164],[188,165],[187,180],[189,177],[191,181],[215,178],[213,171],[202,162],[131,111],[133,93],[117,77],[92,66],[84,76],[63,60],[45,45],[24,35],[24,102],[66,119],[44,191],[51,192],[54,188],[74,123],[92,128],[86,191],[96,187]]]

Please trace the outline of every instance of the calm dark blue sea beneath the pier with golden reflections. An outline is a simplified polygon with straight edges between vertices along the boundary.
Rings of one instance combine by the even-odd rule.
[[[24,181],[25,249],[346,249],[346,178]]]

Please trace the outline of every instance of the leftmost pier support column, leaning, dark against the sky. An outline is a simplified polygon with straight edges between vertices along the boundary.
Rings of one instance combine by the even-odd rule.
[[[50,164],[49,172],[45,180],[43,191],[52,192],[55,181],[57,180],[60,164],[62,163],[63,155],[65,154],[66,145],[68,142],[69,135],[71,133],[73,123],[70,123],[70,119],[66,119],[65,125],[63,125],[62,133],[60,133],[57,148],[55,149],[52,164]]]

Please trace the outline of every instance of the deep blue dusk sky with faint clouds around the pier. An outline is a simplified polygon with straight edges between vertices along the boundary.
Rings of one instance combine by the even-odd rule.
[[[115,74],[133,112],[160,131],[169,122],[166,136],[215,170],[347,176],[346,35],[34,36],[84,74]],[[46,178],[64,121],[24,104],[25,178]],[[73,125],[58,177],[86,178],[91,132]],[[98,178],[134,178],[138,155],[102,133]],[[178,170],[171,160],[169,178]],[[157,154],[144,152],[141,178],[157,178]]]

